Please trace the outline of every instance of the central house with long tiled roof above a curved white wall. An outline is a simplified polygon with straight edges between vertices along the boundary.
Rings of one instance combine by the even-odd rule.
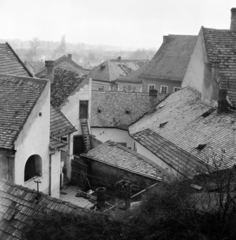
[[[148,93],[92,91],[91,134],[101,142],[112,140],[135,150],[135,141],[128,133],[129,125],[152,111],[165,97],[156,91],[153,96]]]

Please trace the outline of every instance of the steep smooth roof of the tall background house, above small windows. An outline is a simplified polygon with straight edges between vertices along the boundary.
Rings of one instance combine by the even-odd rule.
[[[197,36],[168,35],[141,77],[182,81]]]

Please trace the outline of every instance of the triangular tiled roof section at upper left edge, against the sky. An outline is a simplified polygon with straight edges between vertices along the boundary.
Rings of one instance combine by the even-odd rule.
[[[8,43],[0,44],[0,74],[32,77],[32,74]]]

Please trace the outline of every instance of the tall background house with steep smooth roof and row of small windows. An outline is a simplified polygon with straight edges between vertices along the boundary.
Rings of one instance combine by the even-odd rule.
[[[170,94],[181,88],[197,36],[168,35],[139,76],[142,91],[156,89]]]

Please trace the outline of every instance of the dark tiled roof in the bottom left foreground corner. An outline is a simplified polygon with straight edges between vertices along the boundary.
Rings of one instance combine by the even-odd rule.
[[[38,196],[38,198],[37,198]],[[24,239],[33,218],[51,213],[83,215],[78,206],[0,179],[0,239]]]

